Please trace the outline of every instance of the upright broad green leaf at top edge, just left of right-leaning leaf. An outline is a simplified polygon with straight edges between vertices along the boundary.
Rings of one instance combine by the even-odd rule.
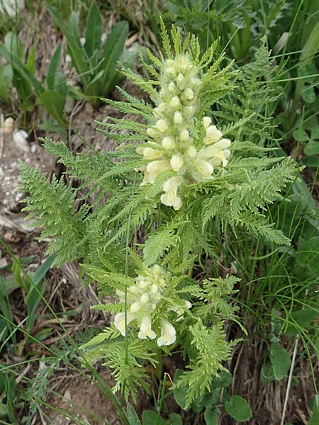
[[[85,31],[85,45],[84,48],[89,57],[91,57],[95,50],[101,47],[102,37],[102,18],[99,9],[94,1],[89,11],[89,16],[86,21]]]

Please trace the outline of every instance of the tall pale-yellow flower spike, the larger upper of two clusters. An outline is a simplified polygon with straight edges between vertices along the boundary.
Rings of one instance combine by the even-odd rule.
[[[161,201],[179,210],[185,183],[212,179],[216,167],[228,164],[231,143],[210,117],[197,119],[201,79],[188,55],[165,61],[159,83],[162,89],[153,109],[154,124],[147,128],[147,146],[137,148],[148,162],[141,169],[142,184],[154,183],[163,171],[173,171],[175,175],[163,184]]]

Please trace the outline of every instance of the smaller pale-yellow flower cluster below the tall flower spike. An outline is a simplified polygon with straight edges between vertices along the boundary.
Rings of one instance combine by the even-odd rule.
[[[148,268],[146,276],[138,276],[135,279],[135,284],[128,287],[127,303],[127,324],[137,320],[140,325],[140,331],[138,332],[138,338],[140,339],[155,339],[157,334],[152,330],[152,313],[155,312],[159,300],[161,300],[162,293],[165,288],[164,271],[161,267],[155,265],[152,268]],[[116,291],[121,302],[124,302],[125,295],[123,291]],[[185,307],[190,308],[191,303],[185,301]],[[184,310],[181,307],[169,307],[169,310],[173,310],[177,313],[178,318],[181,316]],[[121,331],[121,334],[125,336],[125,313],[117,313],[114,317],[114,325],[116,329]],[[176,331],[174,326],[166,319],[162,319],[160,322],[160,336],[157,339],[157,345],[170,345],[176,340]]]

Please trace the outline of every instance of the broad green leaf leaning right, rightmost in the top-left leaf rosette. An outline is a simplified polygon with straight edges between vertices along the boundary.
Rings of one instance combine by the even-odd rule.
[[[116,62],[123,52],[127,37],[128,23],[123,21],[116,23],[106,38],[106,42],[103,45],[105,62],[103,62],[104,73],[101,81],[103,93],[108,93],[110,89],[109,81],[116,71]]]

